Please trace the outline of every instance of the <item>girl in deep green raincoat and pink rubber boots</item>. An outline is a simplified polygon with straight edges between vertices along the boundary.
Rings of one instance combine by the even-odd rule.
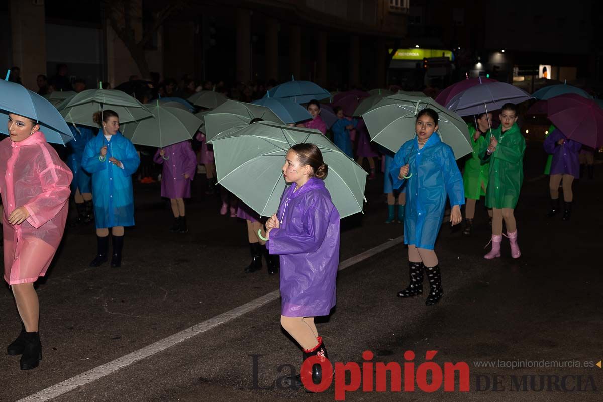
[[[493,209],[492,250],[485,259],[500,257],[502,222],[511,244],[511,257],[519,258],[517,224],[513,210],[519,199],[523,181],[523,152],[526,142],[517,125],[517,106],[505,103],[500,110],[500,126],[488,133],[480,152],[482,162],[490,162],[490,180],[486,190],[486,206]]]

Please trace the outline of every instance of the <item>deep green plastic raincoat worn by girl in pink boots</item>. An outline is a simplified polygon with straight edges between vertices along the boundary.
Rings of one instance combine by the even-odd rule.
[[[513,124],[505,133],[502,125],[488,133],[479,152],[482,162],[490,162],[490,181],[486,190],[488,208],[515,208],[523,182],[523,152],[526,140],[519,131],[519,125]],[[498,140],[496,151],[488,155],[490,137]]]

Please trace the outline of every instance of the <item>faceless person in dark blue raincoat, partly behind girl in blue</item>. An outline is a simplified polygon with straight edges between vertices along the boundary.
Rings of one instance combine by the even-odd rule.
[[[74,174],[74,180],[71,181],[71,193],[74,194],[75,206],[77,207],[78,224],[89,224],[92,221],[92,177],[81,168],[81,159],[84,155],[84,148],[90,139],[94,137],[92,127],[75,124],[70,125],[71,133],[74,134],[74,140],[66,144],[68,149],[67,166]]]

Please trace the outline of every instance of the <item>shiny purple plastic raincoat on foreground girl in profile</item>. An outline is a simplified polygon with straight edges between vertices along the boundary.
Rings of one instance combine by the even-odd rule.
[[[281,314],[313,317],[335,306],[339,266],[339,212],[322,180],[287,187],[280,199],[280,228],[270,231],[270,254],[280,254]]]

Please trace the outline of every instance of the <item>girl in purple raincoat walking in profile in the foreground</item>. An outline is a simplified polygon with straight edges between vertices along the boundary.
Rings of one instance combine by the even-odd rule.
[[[285,181],[292,184],[280,199],[278,213],[266,222],[268,250],[280,255],[280,322],[300,344],[303,360],[327,359],[314,317],[329,314],[335,306],[339,212],[324,187],[327,169],[318,146],[292,146],[283,166]],[[313,365],[312,381],[317,384],[321,377],[320,365]],[[301,386],[301,375],[284,382]]]

